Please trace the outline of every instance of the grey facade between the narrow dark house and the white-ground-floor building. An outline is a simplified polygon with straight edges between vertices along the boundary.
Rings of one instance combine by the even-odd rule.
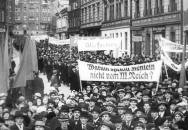
[[[101,36],[103,21],[102,0],[81,0],[81,32],[82,36]]]

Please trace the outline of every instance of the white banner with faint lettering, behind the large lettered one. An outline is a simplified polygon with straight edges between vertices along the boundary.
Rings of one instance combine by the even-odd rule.
[[[117,50],[121,40],[108,37],[82,37],[78,39],[78,51]]]

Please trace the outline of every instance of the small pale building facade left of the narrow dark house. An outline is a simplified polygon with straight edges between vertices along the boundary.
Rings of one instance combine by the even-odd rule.
[[[57,28],[56,34],[59,39],[68,39],[68,8],[62,9],[59,13],[56,14],[57,16]]]

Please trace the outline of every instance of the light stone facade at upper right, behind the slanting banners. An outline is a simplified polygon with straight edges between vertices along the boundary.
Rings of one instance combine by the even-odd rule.
[[[181,41],[181,0],[133,0],[133,54],[157,55],[158,38]]]

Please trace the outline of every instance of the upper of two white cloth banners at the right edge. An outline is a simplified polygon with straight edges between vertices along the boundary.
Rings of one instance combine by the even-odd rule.
[[[159,38],[159,45],[162,50],[165,52],[176,52],[176,53],[182,53],[183,52],[183,45],[172,42],[168,39]],[[188,46],[186,46],[187,52],[188,52]]]

